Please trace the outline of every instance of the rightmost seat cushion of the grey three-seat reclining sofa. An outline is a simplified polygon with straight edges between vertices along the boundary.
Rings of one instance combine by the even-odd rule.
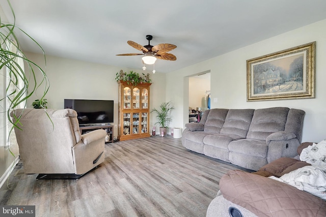
[[[249,156],[266,158],[268,145],[266,145],[265,141],[261,140],[240,139],[230,142],[229,150],[248,154]]]

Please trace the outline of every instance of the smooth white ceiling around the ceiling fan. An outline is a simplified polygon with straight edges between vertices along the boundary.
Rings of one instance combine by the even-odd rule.
[[[6,0],[0,4],[13,20]],[[326,19],[325,0],[12,0],[16,24],[48,55],[141,69],[128,40],[170,43],[176,61],[158,59],[171,72],[243,46]],[[39,52],[26,39],[22,49]],[[152,70],[152,67],[148,67]]]

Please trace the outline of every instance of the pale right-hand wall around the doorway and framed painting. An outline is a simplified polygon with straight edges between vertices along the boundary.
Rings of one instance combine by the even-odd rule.
[[[212,108],[267,108],[284,106],[306,111],[302,141],[319,142],[326,138],[326,20],[322,20],[279,36],[216,56],[199,64],[167,74],[167,101],[172,100],[171,126],[183,127],[188,121],[188,76],[210,70]],[[246,60],[316,41],[315,99],[247,102]],[[180,115],[183,114],[183,115]]]

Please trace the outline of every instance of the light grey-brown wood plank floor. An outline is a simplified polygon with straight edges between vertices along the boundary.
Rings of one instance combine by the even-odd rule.
[[[0,204],[35,205],[36,216],[205,216],[232,169],[171,136],[108,143],[105,162],[79,180],[36,180],[15,169]]]

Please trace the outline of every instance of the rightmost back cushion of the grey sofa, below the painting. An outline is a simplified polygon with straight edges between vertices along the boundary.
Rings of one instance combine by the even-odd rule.
[[[284,131],[289,110],[285,107],[255,110],[247,138],[266,140],[271,133]]]

